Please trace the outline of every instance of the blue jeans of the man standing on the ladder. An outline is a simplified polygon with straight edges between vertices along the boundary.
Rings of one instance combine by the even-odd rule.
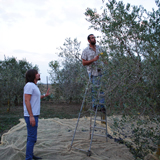
[[[101,78],[102,78],[102,75],[99,75],[99,76],[93,76],[91,74],[89,74],[89,80],[91,81],[92,83],[92,88],[91,88],[91,91],[92,91],[92,108],[94,107],[97,107],[97,104],[98,107],[100,108],[103,108],[104,107],[104,93],[102,91],[100,91],[100,95],[98,96],[98,93],[97,91],[99,90],[99,86],[101,85]],[[99,97],[99,102],[98,102],[98,97]]]

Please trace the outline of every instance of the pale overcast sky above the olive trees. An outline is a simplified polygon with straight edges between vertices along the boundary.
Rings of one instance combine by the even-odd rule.
[[[142,5],[148,11],[156,8],[154,0],[124,0],[131,5]],[[0,60],[15,57],[38,65],[41,82],[49,76],[48,63],[58,60],[57,48],[66,38],[81,41],[87,46],[88,30],[85,20],[87,7],[100,10],[102,0],[0,0]]]

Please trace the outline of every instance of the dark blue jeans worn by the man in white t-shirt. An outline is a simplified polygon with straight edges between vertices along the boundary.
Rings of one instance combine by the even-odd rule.
[[[37,141],[38,116],[34,116],[36,125],[30,125],[29,117],[24,117],[27,125],[26,160],[32,160],[34,144]]]

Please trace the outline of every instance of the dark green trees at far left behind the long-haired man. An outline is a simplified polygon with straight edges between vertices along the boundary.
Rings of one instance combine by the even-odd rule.
[[[11,105],[22,102],[25,73],[30,68],[32,64],[14,57],[0,61],[0,101],[1,105],[8,104],[8,111]],[[38,69],[37,66],[34,68]]]

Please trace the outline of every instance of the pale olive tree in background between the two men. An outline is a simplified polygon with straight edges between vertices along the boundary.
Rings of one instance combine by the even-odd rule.
[[[63,47],[59,48],[58,55],[63,58],[62,67],[57,61],[49,63],[49,74],[56,90],[55,97],[57,100],[80,102],[86,81],[86,68],[80,60],[80,42],[67,38]]]

